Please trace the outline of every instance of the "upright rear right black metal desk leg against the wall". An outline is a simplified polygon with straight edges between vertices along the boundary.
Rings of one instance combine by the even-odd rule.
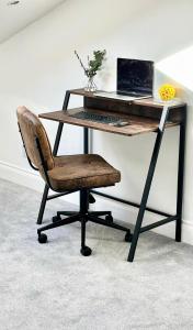
[[[179,141],[179,170],[178,170],[178,195],[177,195],[177,222],[175,241],[181,242],[182,232],[182,200],[183,200],[183,176],[184,176],[184,153],[185,153],[185,120],[180,124]]]

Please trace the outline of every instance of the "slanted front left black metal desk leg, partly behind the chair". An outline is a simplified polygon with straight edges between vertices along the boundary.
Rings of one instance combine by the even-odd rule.
[[[69,98],[70,98],[70,92],[69,92],[69,90],[67,90],[66,95],[65,95],[65,100],[64,100],[64,103],[63,103],[63,110],[64,111],[67,110],[67,108],[68,108]],[[60,122],[58,124],[58,130],[57,130],[57,133],[56,133],[56,140],[55,140],[55,144],[54,144],[54,148],[53,148],[53,155],[54,156],[56,156],[57,152],[58,152],[59,142],[60,142],[60,139],[61,139],[61,133],[63,133],[63,127],[64,127],[64,123]],[[37,224],[42,224],[48,191],[49,191],[49,187],[47,185],[45,185],[43,197],[42,197],[42,202],[41,202],[41,208],[39,208],[38,217],[37,217]]]

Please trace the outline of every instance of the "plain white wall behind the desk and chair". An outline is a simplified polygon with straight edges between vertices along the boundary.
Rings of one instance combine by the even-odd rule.
[[[73,55],[76,48],[87,58],[93,50],[105,48],[107,62],[98,76],[98,86],[115,88],[116,57],[152,59],[158,64],[155,92],[163,81],[172,81],[178,70],[183,72],[186,50],[192,45],[193,2],[191,0],[68,0],[58,9],[26,28],[0,45],[0,175],[33,188],[41,180],[29,174],[16,128],[15,108],[25,105],[36,113],[61,108],[65,90],[81,87],[86,80]],[[182,58],[175,63],[178,53]],[[193,77],[193,64],[190,74]],[[167,63],[167,64],[166,64]],[[168,76],[167,76],[168,75]],[[192,103],[191,84],[178,75],[175,84],[180,96],[189,103],[185,188],[183,209],[183,240],[193,244],[193,183],[192,183]],[[192,86],[193,87],[193,86]],[[81,105],[73,97],[70,106]],[[52,142],[56,123],[46,122]],[[82,130],[65,127],[60,153],[80,153]],[[177,189],[178,129],[167,132],[151,189],[149,206],[174,212]],[[93,151],[104,155],[122,172],[122,183],[107,188],[118,197],[139,201],[152,151],[155,134],[132,139],[94,132]],[[75,200],[75,199],[72,199]],[[110,206],[115,216],[134,221],[136,210],[101,200],[100,207]],[[147,220],[155,219],[147,213]],[[173,224],[161,231],[173,237]]]

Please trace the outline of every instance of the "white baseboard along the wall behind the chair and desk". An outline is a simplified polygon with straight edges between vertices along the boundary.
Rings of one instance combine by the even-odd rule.
[[[44,189],[44,182],[38,174],[4,162],[0,162],[0,178],[13,182],[18,185],[22,185],[41,193]],[[125,226],[126,223],[135,223],[137,216],[136,208],[100,196],[94,197],[96,198],[96,202],[94,205],[91,205],[92,209],[111,210],[113,217],[125,222]],[[78,193],[61,198],[75,205],[78,205],[79,202]],[[158,221],[160,219],[160,216],[146,212],[144,226],[149,224],[154,221]],[[152,231],[173,239],[174,222],[159,227],[157,229],[154,229]],[[182,241],[184,243],[193,245],[193,224],[188,221],[183,221],[182,223]]]

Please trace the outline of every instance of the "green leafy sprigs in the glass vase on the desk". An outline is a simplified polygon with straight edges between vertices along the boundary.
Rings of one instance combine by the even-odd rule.
[[[86,67],[80,58],[80,56],[78,55],[77,51],[75,51],[75,54],[77,56],[77,58],[80,62],[81,67],[84,70],[84,74],[88,78],[94,77],[96,75],[96,73],[102,68],[102,63],[104,61],[106,51],[93,51],[93,58],[90,59],[90,57],[88,56],[88,67]]]

